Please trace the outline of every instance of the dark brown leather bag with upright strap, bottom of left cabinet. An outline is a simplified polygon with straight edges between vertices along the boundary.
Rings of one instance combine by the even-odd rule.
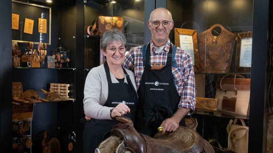
[[[42,141],[43,153],[60,153],[60,142],[57,138],[51,138],[49,141],[48,131],[44,132],[44,138]]]

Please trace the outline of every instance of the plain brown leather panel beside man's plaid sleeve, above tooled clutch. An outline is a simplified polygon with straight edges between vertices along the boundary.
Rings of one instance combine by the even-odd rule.
[[[194,77],[195,77],[196,97],[205,97],[206,75],[195,73]]]

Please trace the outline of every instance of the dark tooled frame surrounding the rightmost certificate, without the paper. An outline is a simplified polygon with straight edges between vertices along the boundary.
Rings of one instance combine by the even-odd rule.
[[[237,35],[235,72],[250,73],[251,67],[240,67],[241,39],[251,38],[252,32],[239,32]]]

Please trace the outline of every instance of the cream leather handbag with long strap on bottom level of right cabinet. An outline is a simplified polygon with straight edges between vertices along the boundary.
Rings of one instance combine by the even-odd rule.
[[[211,139],[208,142],[217,142],[219,150],[221,151],[233,151],[235,153],[247,153],[248,152],[248,127],[245,125],[243,119],[239,119],[242,125],[236,124],[238,119],[234,121],[231,119],[226,127],[228,133],[228,146],[223,148],[216,139]],[[214,146],[213,146],[214,147]]]

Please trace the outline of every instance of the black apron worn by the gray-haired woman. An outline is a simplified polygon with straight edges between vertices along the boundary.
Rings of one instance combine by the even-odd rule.
[[[129,75],[123,68],[127,83],[112,83],[110,70],[107,62],[104,63],[106,77],[108,81],[108,97],[104,104],[106,107],[116,107],[119,103],[126,104],[130,108],[130,113],[124,116],[130,117],[135,121],[136,108],[138,105],[137,91],[135,90]],[[117,120],[98,120],[92,119],[87,121],[83,131],[83,152],[93,153],[101,142],[104,134],[110,131],[114,125],[119,122]]]

